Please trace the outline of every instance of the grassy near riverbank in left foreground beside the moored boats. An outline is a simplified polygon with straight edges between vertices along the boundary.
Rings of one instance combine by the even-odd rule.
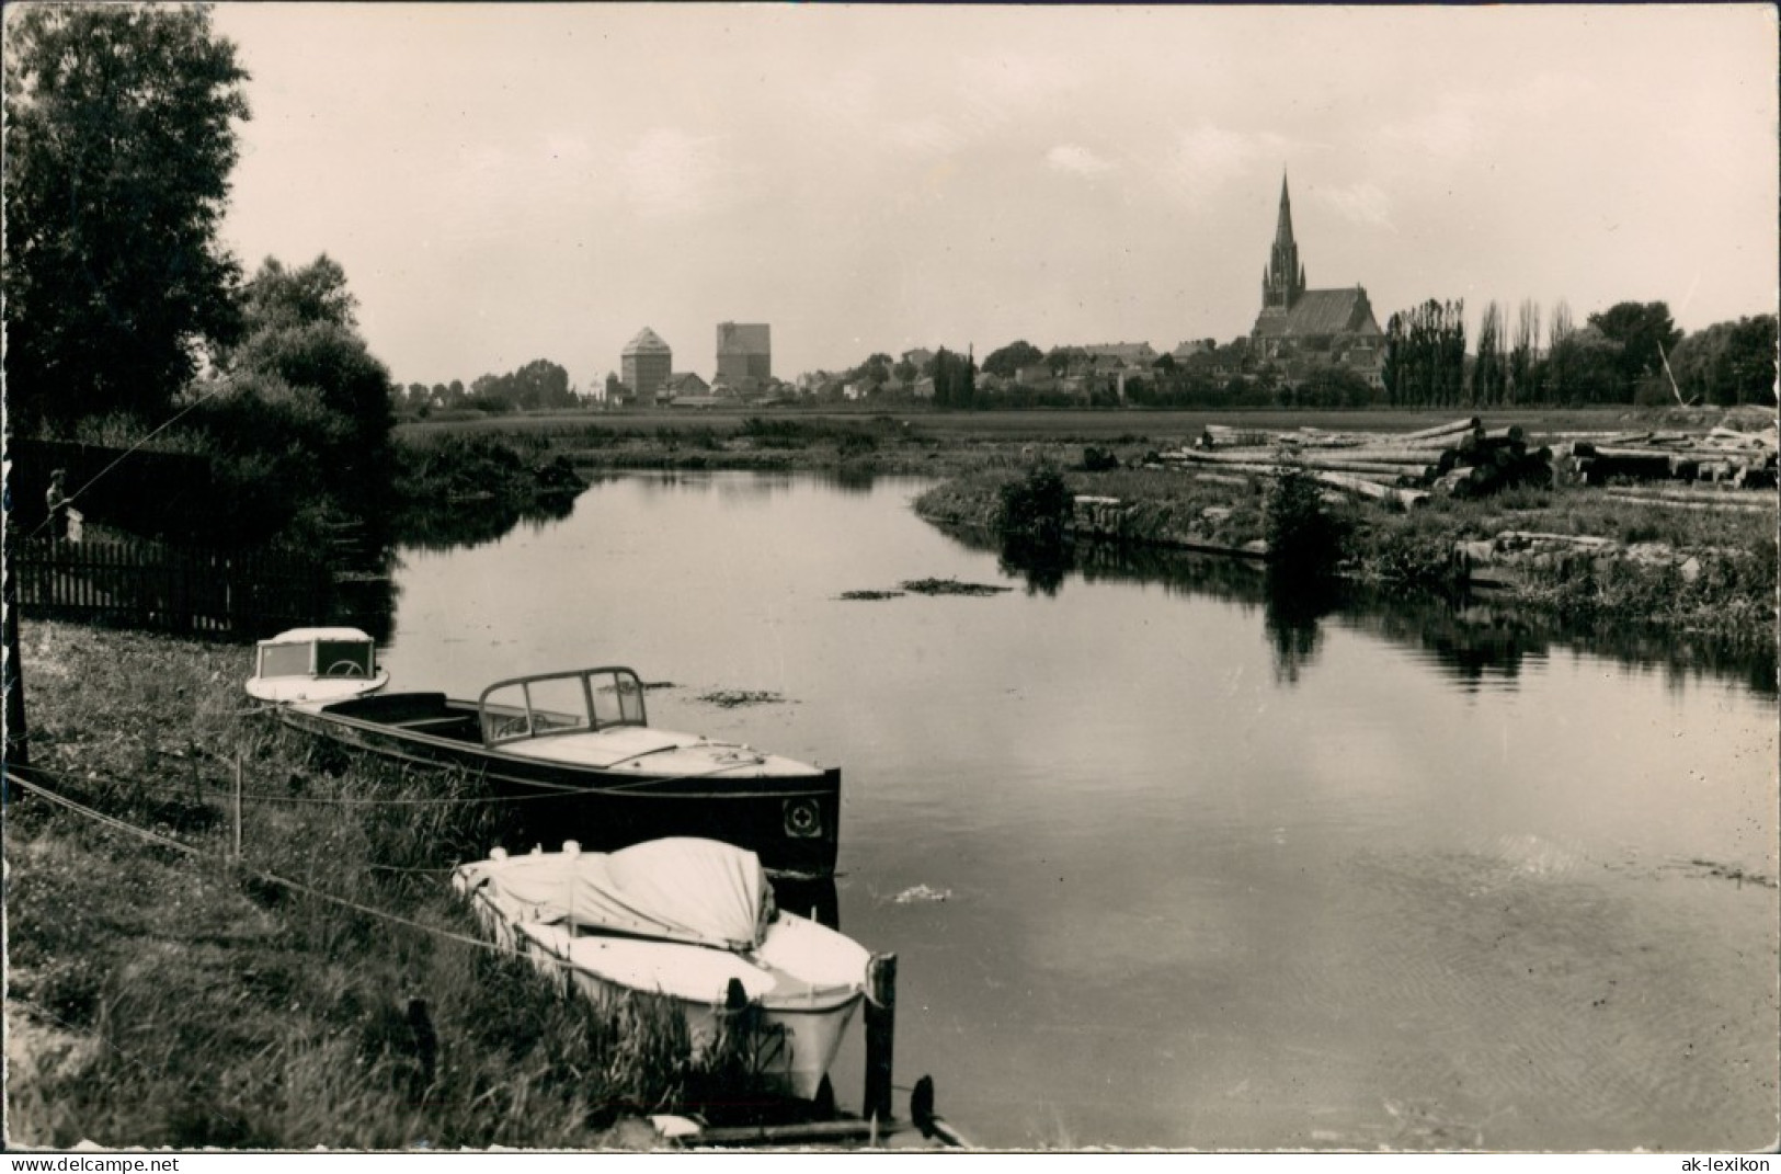
[[[746,1099],[677,1014],[479,946],[447,887],[490,843],[472,782],[248,711],[239,647],[27,622],[21,659],[43,786],[118,823],[7,805],[11,1145],[593,1147]]]

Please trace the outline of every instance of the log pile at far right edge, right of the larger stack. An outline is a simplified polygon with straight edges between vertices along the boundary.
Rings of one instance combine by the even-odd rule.
[[[1744,433],[1715,428],[1688,433],[1617,433],[1571,438],[1560,445],[1562,467],[1583,485],[1619,481],[1683,481],[1735,490],[1776,486],[1776,429]]]

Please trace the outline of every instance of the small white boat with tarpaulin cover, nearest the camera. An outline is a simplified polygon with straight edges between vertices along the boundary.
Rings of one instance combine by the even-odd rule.
[[[671,999],[695,1048],[716,1040],[725,1015],[757,1007],[752,1053],[768,1092],[814,1099],[866,998],[871,953],[775,909],[759,857],[718,841],[497,850],[459,866],[452,887],[499,944],[586,998]]]

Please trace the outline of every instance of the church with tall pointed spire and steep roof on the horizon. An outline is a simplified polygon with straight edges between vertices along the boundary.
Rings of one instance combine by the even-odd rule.
[[[1305,264],[1293,239],[1293,198],[1284,171],[1273,248],[1261,271],[1261,312],[1248,337],[1261,358],[1289,371],[1322,362],[1380,385],[1384,331],[1373,317],[1366,289],[1305,289]]]

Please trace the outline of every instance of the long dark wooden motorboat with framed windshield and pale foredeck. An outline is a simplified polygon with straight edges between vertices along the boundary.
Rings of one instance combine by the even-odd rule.
[[[474,702],[381,693],[278,714],[347,746],[486,779],[534,843],[609,852],[698,836],[757,853],[775,876],[835,873],[839,770],[655,729],[629,668],[515,677]]]

